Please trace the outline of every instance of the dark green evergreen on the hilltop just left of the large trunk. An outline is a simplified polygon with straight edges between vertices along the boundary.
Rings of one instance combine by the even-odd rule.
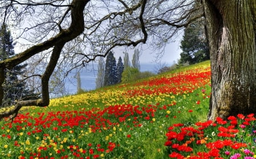
[[[184,29],[183,40],[180,45],[180,61],[190,65],[210,59],[209,46],[205,36],[204,19],[193,22]]]

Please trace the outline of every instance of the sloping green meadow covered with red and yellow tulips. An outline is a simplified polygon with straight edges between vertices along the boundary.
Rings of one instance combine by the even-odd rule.
[[[209,98],[207,61],[52,99],[1,121],[0,158],[256,158],[254,114],[207,121]]]

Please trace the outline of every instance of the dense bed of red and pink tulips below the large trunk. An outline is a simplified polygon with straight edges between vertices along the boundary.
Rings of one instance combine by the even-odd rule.
[[[181,124],[175,126],[174,124],[176,131],[172,128],[171,131],[167,132],[167,141],[164,145],[171,152],[171,158],[184,158],[188,155],[189,158],[201,158],[203,156],[204,158],[223,158],[225,156],[230,159],[254,158],[256,143],[253,139],[256,134],[252,131],[252,134],[244,136],[244,130],[246,129],[248,132],[253,130],[255,121],[254,114],[249,114],[247,117],[238,114],[237,118],[230,116],[228,121],[218,118],[217,123],[212,121],[195,123],[196,127],[184,127]],[[241,124],[246,124],[246,126],[241,127]],[[209,138],[207,132],[211,130],[216,130],[217,137],[216,133],[212,132],[212,136]],[[192,148],[190,145],[198,145],[200,149]],[[236,153],[239,150],[241,153]],[[192,151],[193,153],[188,153]],[[222,156],[223,153],[225,156]]]

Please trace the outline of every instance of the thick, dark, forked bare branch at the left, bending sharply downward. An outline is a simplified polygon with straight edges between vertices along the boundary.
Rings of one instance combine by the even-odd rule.
[[[13,68],[16,65],[26,61],[28,58],[32,57],[43,50],[47,50],[54,46],[51,59],[48,63],[46,71],[42,75],[42,99],[39,100],[28,100],[28,101],[18,101],[14,109],[10,109],[9,111],[5,111],[0,113],[0,119],[4,117],[9,117],[10,115],[14,114],[11,119],[15,118],[18,114],[18,111],[22,106],[47,106],[49,104],[49,87],[48,81],[52,75],[53,70],[57,64],[57,61],[60,57],[61,50],[66,42],[71,41],[73,38],[79,36],[82,31],[84,31],[84,7],[86,3],[89,1],[79,1],[74,0],[72,2],[71,8],[71,25],[68,29],[60,31],[55,37],[50,38],[49,40],[43,42],[42,44],[35,45],[22,53],[15,55],[10,59],[6,59],[4,61],[0,61],[0,100],[2,101],[3,90],[2,84],[5,79],[4,77],[4,69],[5,68]]]

